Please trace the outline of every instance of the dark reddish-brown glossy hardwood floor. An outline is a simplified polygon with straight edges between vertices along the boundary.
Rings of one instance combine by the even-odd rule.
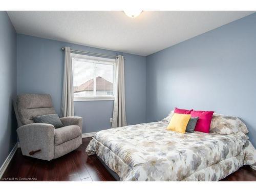
[[[86,154],[91,139],[83,138],[77,150],[51,161],[23,156],[18,148],[3,178],[16,178],[18,181],[115,181],[96,155]],[[256,181],[256,171],[243,166],[222,181]]]

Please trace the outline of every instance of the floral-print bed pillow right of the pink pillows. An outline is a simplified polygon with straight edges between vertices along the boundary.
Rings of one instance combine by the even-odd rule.
[[[214,113],[210,124],[210,133],[231,135],[238,132],[249,133],[246,125],[238,117]]]

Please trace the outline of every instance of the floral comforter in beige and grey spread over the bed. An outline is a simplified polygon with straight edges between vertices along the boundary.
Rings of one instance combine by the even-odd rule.
[[[256,150],[236,135],[180,134],[167,121],[98,132],[88,145],[121,181],[217,181],[244,164],[256,168]]]

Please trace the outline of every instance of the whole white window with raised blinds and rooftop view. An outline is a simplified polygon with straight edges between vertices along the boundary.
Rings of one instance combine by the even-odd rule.
[[[114,100],[115,59],[71,54],[74,100]]]

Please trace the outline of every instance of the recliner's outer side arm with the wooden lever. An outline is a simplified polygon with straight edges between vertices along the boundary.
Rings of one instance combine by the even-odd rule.
[[[50,161],[54,158],[54,126],[31,123],[18,127],[17,134],[23,155]],[[30,155],[31,151],[41,150]]]

